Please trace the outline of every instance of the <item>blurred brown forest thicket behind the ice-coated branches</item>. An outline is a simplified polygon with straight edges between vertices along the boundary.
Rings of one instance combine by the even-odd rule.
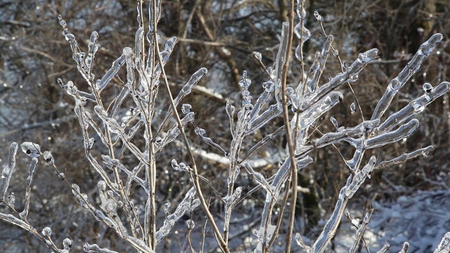
[[[147,5],[148,1],[145,2]],[[376,102],[390,80],[397,76],[418,46],[436,32],[444,35],[443,42],[394,98],[392,110],[397,111],[411,99],[420,96],[424,82],[435,86],[450,81],[448,0],[311,0],[307,1],[307,6],[309,15],[306,27],[312,32],[304,52],[307,67],[314,59],[314,52],[320,50],[324,41],[319,22],[312,15],[314,11],[323,16],[326,33],[335,37],[333,46],[338,49],[343,62],[351,63],[359,52],[370,48],[380,50],[380,58],[369,64],[359,75],[359,81],[353,84],[365,119],[371,117]],[[240,105],[238,82],[243,70],[247,70],[252,79],[250,89],[254,98],[261,93],[261,84],[267,77],[252,51],[262,53],[262,61],[267,67],[274,63],[281,23],[288,20],[287,8],[286,0],[162,1],[162,18],[158,27],[160,35],[162,39],[173,36],[179,38],[165,67],[169,82],[174,91],[179,91],[193,72],[200,67],[207,67],[210,74],[200,86],[204,86],[209,93],[197,89],[185,102],[193,105],[195,123],[213,135],[217,143],[229,143],[231,139],[225,104],[230,99],[235,105]],[[68,28],[77,37],[81,48],[87,48],[91,32],[98,31],[100,48],[94,66],[97,76],[110,68],[122,54],[122,48],[134,47],[136,0],[0,0],[0,157],[4,163],[8,147],[13,141],[39,143],[43,150],[51,150],[56,164],[65,171],[68,181],[79,184],[85,193],[95,196],[96,188],[92,186],[96,186],[99,177],[84,158],[82,135],[73,112],[74,103],[56,82],[57,78],[64,82],[72,80],[77,86],[86,88],[72,60],[70,46],[61,34],[58,15],[68,22]],[[293,83],[299,78],[300,65],[297,63],[296,59],[291,63],[293,67],[289,78]],[[338,72],[339,61],[330,56],[322,82],[326,81],[328,75]],[[114,83],[117,89],[110,89],[110,98],[117,95],[122,85],[120,77],[116,77]],[[354,98],[348,87],[342,93],[345,94],[344,101],[318,122],[320,131],[315,131],[313,138],[319,137],[320,132],[334,131],[329,121],[331,116],[338,120],[340,126],[355,126],[361,122],[360,112],[352,114],[349,110]],[[369,207],[373,200],[389,202],[417,190],[448,188],[449,95],[432,103],[418,119],[420,129],[407,141],[374,150],[373,153],[388,160],[427,145],[435,145],[434,152],[429,157],[376,171],[370,181],[371,187],[361,190],[354,197],[357,200],[352,202]],[[280,118],[279,125],[266,126],[264,131],[274,131],[281,124],[283,119]],[[195,138],[192,133],[191,136],[195,148],[207,150],[200,138]],[[274,150],[283,150],[284,145],[283,137],[279,137],[263,153],[271,156]],[[348,147],[338,148],[344,157],[350,158],[346,156]],[[188,182],[188,178],[186,175],[173,174],[170,167],[170,161],[180,152],[174,146],[159,157],[161,167],[158,170],[163,174],[160,178],[162,193],[165,193],[164,189],[173,189],[160,196],[160,206],[179,198],[179,191],[186,192],[180,189],[183,186],[179,182]],[[311,194],[304,195],[299,204],[299,213],[307,216],[303,232],[311,236],[317,232],[314,228],[323,215],[333,209],[338,190],[348,176],[348,171],[344,169],[345,162],[336,150],[316,150],[314,155],[314,164],[302,171],[300,176],[301,186],[311,190]],[[23,154],[18,154],[18,157],[18,171],[11,190],[14,190],[20,202],[30,159]],[[202,159],[198,157],[198,160]],[[209,162],[203,161],[202,164]],[[221,164],[212,164],[210,167],[214,169],[203,171],[203,175],[208,179],[217,178],[217,182],[214,182],[217,188],[224,189],[226,179],[221,177],[223,174],[220,170],[226,167]],[[269,171],[275,167],[276,164],[269,164],[263,169]],[[101,237],[110,238],[108,243],[112,249],[120,249],[122,246],[115,245],[121,243],[120,240],[115,242],[117,235],[108,234],[108,231],[99,228],[101,225],[72,199],[70,189],[58,181],[54,171],[39,164],[34,177],[34,205],[30,208],[29,218],[34,226],[51,226],[57,241],[67,236],[75,240],[77,247],[82,247],[85,240],[98,242]],[[260,199],[261,203],[255,203],[257,207],[262,206],[264,196]],[[0,210],[3,208],[0,207]],[[104,234],[99,235],[99,231]],[[0,223],[0,252],[35,252],[32,249],[38,244],[25,231]]]

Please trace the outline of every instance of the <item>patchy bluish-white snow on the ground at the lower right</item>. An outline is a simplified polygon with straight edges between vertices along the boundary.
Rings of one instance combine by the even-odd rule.
[[[410,245],[408,252],[432,252],[450,231],[450,189],[418,191],[394,202],[372,205],[374,212],[364,233],[371,252],[377,252],[386,242],[392,246],[389,252],[399,252],[405,241]],[[352,214],[356,215],[362,216]],[[343,217],[334,240],[335,252],[348,252],[355,232],[347,217]]]

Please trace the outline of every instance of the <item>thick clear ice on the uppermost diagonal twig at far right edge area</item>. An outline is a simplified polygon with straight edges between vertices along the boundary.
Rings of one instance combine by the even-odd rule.
[[[406,84],[406,81],[408,81],[410,77],[416,74],[417,70],[420,68],[420,65],[423,63],[423,60],[425,60],[425,58],[435,49],[436,45],[441,40],[442,34],[434,34],[430,37],[430,39],[428,39],[428,41],[425,41],[425,43],[419,47],[418,51],[406,67],[404,67],[399,75],[392,79],[389,86],[387,86],[383,97],[380,98],[375,110],[373,111],[371,119],[380,119],[380,117],[383,116],[399,89]]]

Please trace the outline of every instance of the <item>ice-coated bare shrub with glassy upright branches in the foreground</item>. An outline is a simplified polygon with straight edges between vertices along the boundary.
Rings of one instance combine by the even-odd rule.
[[[51,152],[42,152],[37,143],[25,142],[20,147],[33,158],[26,180],[25,204],[20,207],[23,212],[19,212],[15,207],[15,195],[8,195],[18,144],[13,143],[10,147],[0,181],[0,201],[5,206],[0,219],[32,233],[53,252],[69,252],[73,242],[65,238],[63,249],[59,249],[49,226],[39,232],[28,219],[33,205],[32,179],[39,157],[72,190],[76,202],[83,208],[83,211],[78,209],[75,212],[89,213],[98,221],[88,220],[84,226],[91,226],[98,233],[97,243],[105,248],[86,242],[86,252],[113,252],[106,247],[127,252],[133,249],[138,252],[169,249],[203,252],[214,247],[223,252],[249,249],[255,249],[255,252],[285,249],[289,252],[291,247],[323,252],[338,230],[347,202],[376,169],[427,156],[433,149],[429,145],[390,158],[371,155],[375,148],[384,148],[387,144],[409,138],[419,126],[418,119],[413,117],[449,91],[449,82],[436,86],[425,83],[422,95],[383,117],[394,96],[442,41],[442,34],[433,34],[418,48],[406,67],[390,81],[370,119],[365,119],[364,105],[356,98],[350,83],[359,80],[359,73],[368,64],[377,63],[378,49],[359,53],[351,64],[342,63],[339,51],[333,46],[334,37],[326,33],[318,12],[314,12],[314,17],[324,39],[314,38],[310,44],[305,44],[311,38],[311,32],[305,25],[307,11],[304,1],[299,1],[296,11],[300,22],[294,24],[294,9],[290,9],[289,22],[282,25],[273,67],[266,68],[262,53],[253,52],[264,76],[262,89],[259,87],[261,94],[253,100],[250,90],[254,85],[251,86],[252,80],[243,71],[238,82],[242,103],[237,105],[231,100],[226,101],[227,117],[217,115],[217,122],[214,122],[219,124],[217,132],[207,132],[201,128],[207,122],[195,122],[195,113],[208,108],[198,108],[198,105],[182,101],[194,90],[205,96],[224,98],[196,86],[208,73],[205,67],[194,72],[176,96],[172,95],[176,87],[169,83],[165,65],[169,63],[177,39],[164,40],[158,35],[156,27],[162,13],[159,4],[149,6],[147,30],[141,2],[138,11],[134,48],[125,47],[122,55],[100,79],[94,74],[98,61],[98,32],[92,32],[85,53],[75,35],[68,30],[65,20],[58,17],[63,35],[72,48],[72,58],[87,88],[81,89],[80,85],[72,81],[63,82],[62,79],[58,79],[58,84],[75,101],[74,112],[81,126],[84,153],[100,176],[97,187],[89,184],[94,179],[82,182],[84,188],[70,183],[72,180],[58,166]],[[300,65],[290,68],[294,65],[290,58],[294,34],[300,39],[295,47],[295,58]],[[160,44],[163,44],[161,50]],[[309,70],[305,70],[304,48],[318,44],[321,44],[321,51],[316,52]],[[226,50],[220,52],[226,56]],[[326,63],[333,56],[340,63],[340,70],[326,70]],[[322,77],[323,73],[328,74],[328,79]],[[341,86],[348,88],[340,89]],[[345,96],[338,89],[351,96]],[[335,106],[345,100],[352,101],[349,103],[350,113],[361,117],[353,126],[349,126],[349,122],[342,126],[329,116]],[[281,115],[283,122],[279,120]],[[331,125],[323,123],[324,118],[329,118]],[[225,126],[229,127],[230,133],[221,132]],[[282,135],[284,141],[276,141]],[[195,148],[191,143],[195,143]],[[342,145],[342,149],[336,145]],[[337,191],[334,211],[327,215],[328,221],[321,224],[319,193],[316,188],[309,187],[307,174],[303,171],[319,159],[316,151],[326,147],[333,147],[342,157],[349,176]],[[353,154],[349,153],[350,148]],[[364,156],[366,152],[370,157]],[[347,156],[352,158],[345,160]],[[205,164],[204,169],[197,165],[200,163]],[[297,200],[302,202],[297,204]],[[68,200],[50,202],[52,206],[47,208],[53,209]],[[99,207],[96,207],[97,202]],[[46,208],[47,203],[36,205]],[[303,215],[296,216],[296,212]],[[363,235],[372,212],[373,209],[368,209],[361,221],[352,219],[356,239],[350,245],[351,252],[355,252],[360,243],[368,247]],[[349,214],[347,216],[350,218]],[[200,228],[195,223],[203,226]],[[320,232],[315,234],[314,228],[321,225]],[[250,235],[250,228],[253,228],[253,235]],[[308,235],[303,238],[300,231]],[[294,233],[296,243],[292,245]],[[313,236],[316,240],[312,239]],[[122,244],[119,238],[127,243]],[[437,252],[449,250],[449,240],[450,234],[447,233]],[[384,249],[388,247],[385,245]],[[405,252],[408,247],[405,243]]]

